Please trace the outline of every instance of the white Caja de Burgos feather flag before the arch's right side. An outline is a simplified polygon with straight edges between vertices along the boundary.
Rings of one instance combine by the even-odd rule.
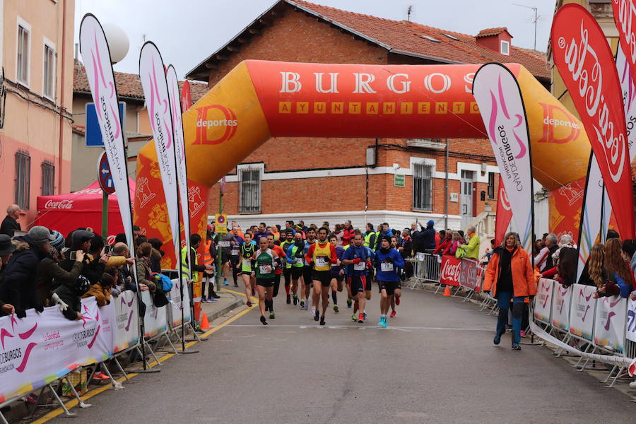
[[[493,146],[519,238],[526,252],[531,252],[534,189],[530,137],[519,84],[502,64],[485,64],[475,74],[473,96]]]

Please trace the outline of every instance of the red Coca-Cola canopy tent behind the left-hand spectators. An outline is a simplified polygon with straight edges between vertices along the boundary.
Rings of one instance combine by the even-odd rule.
[[[130,199],[134,201],[135,182],[129,179]],[[90,227],[99,234],[102,232],[102,189],[95,181],[85,189],[68,194],[37,196],[37,216],[33,225],[44,225],[58,230],[66,237],[79,227]],[[117,194],[108,197],[108,235],[109,242],[114,236],[124,232],[122,216],[119,215]]]

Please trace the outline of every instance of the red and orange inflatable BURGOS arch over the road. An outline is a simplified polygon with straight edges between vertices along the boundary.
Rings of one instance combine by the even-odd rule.
[[[479,66],[241,62],[183,114],[192,231],[205,232],[208,188],[271,137],[487,139],[471,94]],[[581,122],[522,65],[506,66],[522,89],[534,177],[550,190],[584,177]],[[167,242],[153,142],[139,152],[136,182],[135,222]]]

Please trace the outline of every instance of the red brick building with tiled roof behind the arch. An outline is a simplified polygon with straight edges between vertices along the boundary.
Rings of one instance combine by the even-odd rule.
[[[212,87],[245,59],[517,62],[544,86],[550,83],[545,54],[514,47],[506,28],[474,37],[305,1],[278,1],[187,78]],[[242,225],[351,219],[356,226],[387,221],[399,228],[417,218],[440,221],[436,226],[441,228],[447,216],[449,227],[459,229],[488,216],[489,208],[495,210],[498,169],[490,143],[483,139],[273,138],[237,165],[226,181],[223,211]],[[216,187],[211,190],[210,215],[218,212],[218,195]]]

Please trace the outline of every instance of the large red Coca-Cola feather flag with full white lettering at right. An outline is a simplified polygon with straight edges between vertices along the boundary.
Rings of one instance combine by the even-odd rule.
[[[625,110],[611,48],[596,19],[578,4],[566,4],[557,11],[550,41],[554,63],[599,163],[620,237],[633,238],[634,199]],[[625,47],[623,40],[621,44]]]

